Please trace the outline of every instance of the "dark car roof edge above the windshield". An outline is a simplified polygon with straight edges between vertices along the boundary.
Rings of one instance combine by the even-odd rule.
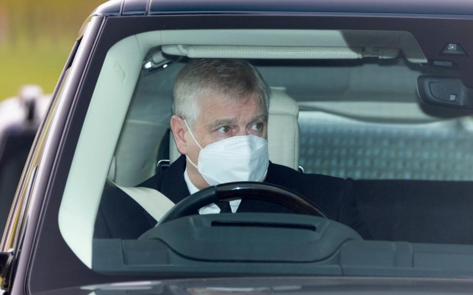
[[[92,15],[317,12],[473,16],[471,0],[111,0]]]

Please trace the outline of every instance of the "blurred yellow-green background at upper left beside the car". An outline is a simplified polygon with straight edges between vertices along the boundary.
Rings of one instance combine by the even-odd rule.
[[[82,23],[105,0],[0,0],[0,100],[56,86]]]

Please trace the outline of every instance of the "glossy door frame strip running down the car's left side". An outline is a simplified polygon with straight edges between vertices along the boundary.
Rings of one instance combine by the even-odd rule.
[[[105,17],[90,17],[79,31],[53,91],[25,168],[0,241],[0,288],[9,294],[30,293],[27,273],[39,215],[51,185],[57,152],[64,144],[70,110],[90,64]]]

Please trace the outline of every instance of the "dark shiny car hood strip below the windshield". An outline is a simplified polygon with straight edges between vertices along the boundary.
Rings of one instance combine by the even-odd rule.
[[[298,294],[470,294],[473,279],[259,277],[131,281],[89,285],[39,294],[68,295],[298,295]]]

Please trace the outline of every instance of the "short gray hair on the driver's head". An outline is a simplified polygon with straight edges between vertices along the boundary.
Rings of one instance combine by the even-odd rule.
[[[270,88],[249,62],[242,59],[194,59],[176,77],[173,91],[174,114],[193,126],[200,115],[200,97],[229,94],[247,98],[256,95],[268,115]]]

